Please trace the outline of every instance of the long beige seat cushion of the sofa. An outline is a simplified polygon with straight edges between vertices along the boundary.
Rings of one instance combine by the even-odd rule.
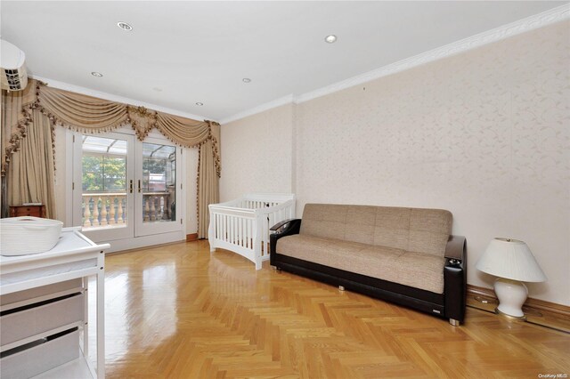
[[[276,250],[279,254],[339,270],[444,293],[442,256],[304,234],[280,238]]]

